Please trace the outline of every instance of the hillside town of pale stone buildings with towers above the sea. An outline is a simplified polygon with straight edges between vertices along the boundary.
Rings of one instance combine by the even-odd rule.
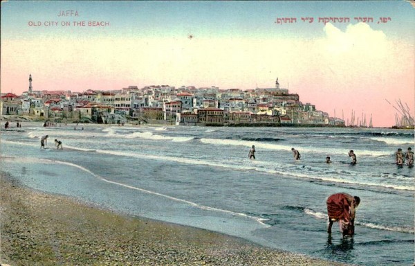
[[[333,126],[340,118],[302,103],[298,94],[275,87],[219,89],[219,87],[151,85],[111,91],[83,92],[34,90],[21,96],[1,94],[0,115],[21,116],[54,123],[145,123],[210,126]]]

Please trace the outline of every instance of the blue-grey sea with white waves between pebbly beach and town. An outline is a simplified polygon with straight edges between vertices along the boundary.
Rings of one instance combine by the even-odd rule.
[[[0,167],[126,215],[342,263],[413,265],[415,169],[396,166],[394,153],[414,145],[413,130],[387,128],[23,123],[1,130]],[[338,224],[326,232],[326,199],[340,192],[361,199],[353,237]]]

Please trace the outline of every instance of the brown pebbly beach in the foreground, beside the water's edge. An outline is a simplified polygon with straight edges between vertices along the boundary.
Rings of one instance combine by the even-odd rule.
[[[120,215],[0,172],[1,265],[347,265],[194,227]]]

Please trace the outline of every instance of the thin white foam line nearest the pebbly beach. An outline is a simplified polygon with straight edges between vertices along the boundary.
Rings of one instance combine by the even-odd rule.
[[[8,157],[8,158],[12,159],[13,157]],[[15,159],[17,159],[17,158],[15,158]],[[84,172],[88,172],[93,177],[96,177],[96,178],[98,178],[98,179],[100,179],[104,182],[109,183],[109,184],[115,184],[115,185],[118,185],[118,186],[123,186],[124,188],[130,188],[130,189],[138,190],[138,191],[148,193],[148,194],[151,194],[151,195],[157,195],[157,196],[160,196],[160,197],[165,197],[167,199],[172,199],[176,202],[183,202],[185,204],[189,204],[190,206],[194,206],[194,207],[202,209],[202,210],[218,211],[218,212],[221,212],[221,213],[228,213],[228,214],[231,214],[231,215],[237,215],[237,216],[241,216],[241,217],[244,217],[244,218],[249,218],[251,220],[255,220],[255,221],[259,222],[260,224],[263,224],[265,227],[270,227],[268,224],[264,224],[264,222],[263,222],[264,219],[262,219],[262,218],[257,218],[255,216],[246,215],[245,213],[236,213],[234,211],[228,211],[228,210],[218,209],[218,208],[214,208],[214,207],[210,207],[210,206],[199,205],[199,204],[196,204],[194,202],[190,202],[190,201],[185,200],[185,199],[179,199],[177,197],[172,197],[172,196],[169,196],[169,195],[157,193],[157,192],[147,190],[147,189],[144,189],[144,188],[137,188],[136,186],[130,186],[130,185],[127,185],[127,184],[122,184],[122,183],[116,182],[116,181],[111,181],[111,180],[105,179],[104,177],[101,177],[100,175],[95,174],[94,172],[84,168],[83,166],[78,166],[75,163],[68,163],[66,161],[57,161],[57,160],[49,160],[49,159],[36,159],[35,161],[37,161],[37,162],[44,161],[46,163],[60,163],[60,164],[66,165],[66,166],[72,166],[72,167],[78,168],[80,170],[83,170]]]

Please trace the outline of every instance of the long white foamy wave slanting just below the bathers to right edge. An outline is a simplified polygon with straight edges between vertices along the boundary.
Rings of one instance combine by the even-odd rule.
[[[134,133],[135,134],[135,133]],[[188,139],[172,139],[171,141],[187,141]],[[227,140],[231,141],[231,140]],[[29,145],[31,147],[38,147],[37,143],[20,143],[5,141],[6,143],[12,143],[15,145]],[[344,170],[338,169],[333,170],[333,168],[318,168],[314,166],[308,166],[304,168],[301,162],[291,164],[279,164],[270,161],[259,161],[259,160],[212,160],[212,159],[193,159],[188,157],[178,157],[178,156],[165,156],[165,155],[155,155],[155,154],[143,154],[142,152],[128,152],[128,151],[117,151],[117,150],[102,150],[102,149],[93,149],[93,148],[80,148],[76,146],[66,145],[65,149],[68,150],[80,150],[82,152],[98,152],[102,154],[112,154],[116,156],[125,156],[125,157],[134,157],[140,159],[149,159],[156,161],[170,161],[174,163],[183,163],[190,165],[199,165],[199,166],[212,166],[219,168],[227,168],[237,171],[257,171],[257,172],[266,172],[270,175],[279,175],[286,178],[297,178],[297,179],[309,179],[314,181],[324,181],[329,184],[350,184],[353,186],[370,186],[374,188],[387,188],[393,190],[415,190],[413,185],[413,179],[411,177],[404,177],[403,175],[395,175],[393,173],[385,173],[381,176],[373,177],[370,173],[368,176],[357,178],[356,175],[351,175],[347,173],[344,175]],[[359,174],[361,175],[361,173]],[[391,182],[391,180],[394,180]]]

